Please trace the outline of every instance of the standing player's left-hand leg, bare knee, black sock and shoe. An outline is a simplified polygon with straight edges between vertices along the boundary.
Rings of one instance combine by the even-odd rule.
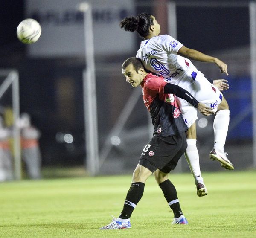
[[[103,226],[100,230],[106,229],[127,229],[131,228],[130,217],[137,203],[143,196],[145,181],[152,174],[148,168],[138,164],[134,170],[132,183],[127,192],[125,203],[119,218],[114,218],[107,226]]]

